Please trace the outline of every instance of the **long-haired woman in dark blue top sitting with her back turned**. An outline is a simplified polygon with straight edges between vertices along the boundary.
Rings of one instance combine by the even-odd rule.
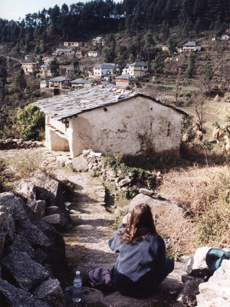
[[[132,297],[145,297],[174,269],[165,255],[165,242],[157,232],[148,205],[135,206],[109,239],[113,252],[119,252],[111,270],[112,287]]]

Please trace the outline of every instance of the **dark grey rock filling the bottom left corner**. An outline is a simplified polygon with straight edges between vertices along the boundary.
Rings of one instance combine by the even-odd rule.
[[[10,307],[51,307],[31,293],[12,286],[4,279],[0,279],[0,293]]]

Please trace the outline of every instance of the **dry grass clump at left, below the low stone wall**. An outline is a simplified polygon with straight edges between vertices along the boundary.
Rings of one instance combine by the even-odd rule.
[[[25,150],[11,160],[15,179],[27,178],[36,168],[42,166],[42,153]]]

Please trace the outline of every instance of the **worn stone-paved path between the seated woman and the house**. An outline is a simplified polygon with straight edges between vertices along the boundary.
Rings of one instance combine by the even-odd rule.
[[[85,278],[87,271],[97,267],[112,268],[116,262],[108,247],[112,229],[108,225],[116,218],[116,209],[105,206],[105,187],[102,181],[88,173],[66,174],[57,170],[73,184],[72,203],[75,214],[71,220],[76,226],[64,233],[66,259],[74,270]],[[73,211],[71,211],[72,213]]]

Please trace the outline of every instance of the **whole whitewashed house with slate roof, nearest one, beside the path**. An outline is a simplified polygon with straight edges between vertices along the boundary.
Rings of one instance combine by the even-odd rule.
[[[86,147],[108,156],[179,152],[185,112],[140,93],[88,86],[33,104],[45,113],[46,146],[69,148],[72,158]]]

